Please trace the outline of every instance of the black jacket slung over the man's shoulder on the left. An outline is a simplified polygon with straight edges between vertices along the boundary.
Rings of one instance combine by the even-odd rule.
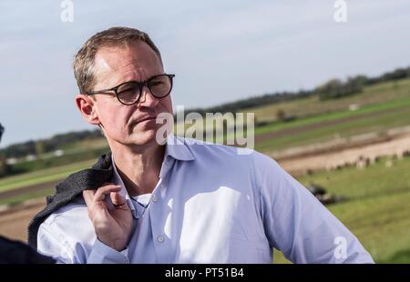
[[[108,182],[113,173],[111,153],[99,156],[97,163],[68,176],[63,182],[56,185],[56,194],[47,196],[47,206],[36,214],[28,225],[28,244],[37,247],[38,227],[46,220],[46,217],[58,208],[66,206],[77,196],[82,196],[84,190],[94,190]]]

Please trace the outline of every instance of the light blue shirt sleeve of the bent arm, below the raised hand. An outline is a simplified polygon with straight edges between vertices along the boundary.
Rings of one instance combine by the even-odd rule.
[[[78,249],[53,226],[41,224],[37,234],[37,251],[53,257],[60,264],[128,264],[128,248],[121,252],[96,239],[90,251]]]

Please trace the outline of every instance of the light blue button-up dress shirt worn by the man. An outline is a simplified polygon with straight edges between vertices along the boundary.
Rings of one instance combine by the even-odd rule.
[[[152,193],[128,196],[114,166],[133,215],[124,251],[97,239],[84,200],[46,218],[38,251],[60,263],[272,263],[275,247],[294,263],[373,263],[271,157],[239,150],[170,135]]]

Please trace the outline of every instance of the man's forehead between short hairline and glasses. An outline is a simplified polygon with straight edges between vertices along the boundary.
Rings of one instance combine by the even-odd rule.
[[[97,85],[146,80],[162,72],[159,56],[142,41],[102,47],[95,57],[94,74]]]

